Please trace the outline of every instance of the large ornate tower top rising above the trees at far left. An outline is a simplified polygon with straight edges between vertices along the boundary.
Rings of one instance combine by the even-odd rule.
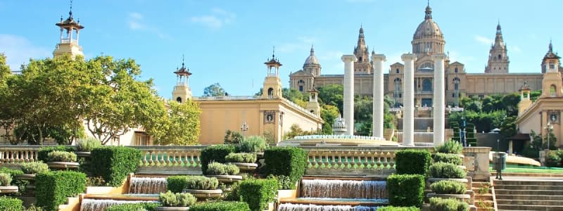
[[[78,32],[84,29],[84,26],[80,25],[80,20],[75,21],[75,18],[72,17],[72,1],[70,1],[68,18],[63,20],[63,16],[61,16],[61,21],[55,25],[61,27],[61,41],[56,45],[55,51],[53,51],[53,57],[62,56],[67,53],[70,54],[72,58],[75,58],[77,55],[84,56],[82,46],[78,45]],[[63,37],[63,32],[66,32],[65,37]],[[76,34],[76,36],[73,36],[73,34]]]

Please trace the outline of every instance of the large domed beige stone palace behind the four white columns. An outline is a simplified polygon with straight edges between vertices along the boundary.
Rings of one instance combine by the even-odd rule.
[[[445,39],[440,27],[432,19],[430,6],[426,6],[424,20],[415,30],[411,44],[412,52],[417,56],[415,61],[415,106],[431,107],[434,93],[434,61],[431,55],[445,53]],[[354,63],[354,89],[355,94],[372,96],[372,61],[369,60],[368,54],[364,29],[360,27],[358,43],[354,47],[354,55],[358,58],[358,62]],[[445,59],[446,103],[456,106],[462,96],[482,98],[492,94],[512,93],[518,91],[524,82],[527,82],[530,89],[541,88],[543,75],[539,71],[537,73],[509,73],[509,63],[507,47],[502,39],[500,24],[498,24],[495,43],[491,45],[488,64],[483,73],[467,73],[463,63],[450,61],[449,58]],[[307,91],[313,84],[316,87],[343,84],[343,75],[322,75],[321,69],[321,65],[315,57],[315,51],[311,49],[310,56],[303,64],[303,69],[289,75],[290,87]],[[393,63],[390,65],[388,73],[384,75],[384,93],[395,99],[397,106],[403,103],[403,70],[402,63]]]

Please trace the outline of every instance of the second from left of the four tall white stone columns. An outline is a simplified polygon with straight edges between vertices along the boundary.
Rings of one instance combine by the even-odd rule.
[[[372,132],[374,137],[383,137],[383,119],[384,119],[384,87],[383,87],[383,62],[385,55],[372,54],[372,62],[374,62],[374,106],[373,106],[373,122]]]

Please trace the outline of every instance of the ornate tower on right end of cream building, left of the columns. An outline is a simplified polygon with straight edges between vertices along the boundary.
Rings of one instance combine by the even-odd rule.
[[[263,98],[281,98],[281,79],[279,79],[279,67],[281,63],[272,51],[272,58],[264,63],[267,67],[267,75],[264,79]]]

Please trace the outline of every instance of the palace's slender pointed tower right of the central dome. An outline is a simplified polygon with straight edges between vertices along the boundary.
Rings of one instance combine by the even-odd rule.
[[[491,50],[488,52],[488,63],[485,73],[508,73],[508,63],[510,61],[506,52],[506,44],[502,40],[500,23],[498,23],[495,43],[491,45]]]

